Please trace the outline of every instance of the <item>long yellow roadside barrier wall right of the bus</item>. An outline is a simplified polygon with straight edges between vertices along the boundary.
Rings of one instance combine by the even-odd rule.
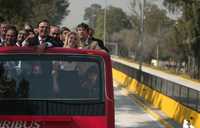
[[[163,95],[159,91],[139,83],[135,78],[124,73],[119,68],[113,68],[112,72],[113,79],[118,82],[120,86],[126,88],[129,93],[142,96],[147,102],[159,108],[169,118],[172,118],[179,124],[182,124],[184,119],[189,119],[195,128],[200,128],[199,112],[186,107],[171,97]]]

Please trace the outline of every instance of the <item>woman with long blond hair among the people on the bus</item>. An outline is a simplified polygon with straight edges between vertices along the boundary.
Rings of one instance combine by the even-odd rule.
[[[80,48],[80,39],[76,32],[69,32],[65,37],[64,48]]]

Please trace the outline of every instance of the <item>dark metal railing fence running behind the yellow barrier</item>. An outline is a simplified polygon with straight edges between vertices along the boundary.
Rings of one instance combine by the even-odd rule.
[[[174,81],[166,80],[162,77],[152,75],[145,71],[139,71],[128,65],[113,61],[113,67],[117,70],[123,71],[128,76],[136,80],[141,80],[142,84],[156,90],[166,96],[171,97],[177,102],[187,106],[197,112],[200,112],[200,91],[186,87]]]

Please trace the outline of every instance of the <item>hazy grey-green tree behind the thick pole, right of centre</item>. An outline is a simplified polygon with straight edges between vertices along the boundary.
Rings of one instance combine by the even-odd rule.
[[[130,4],[132,10],[131,23],[133,24],[133,29],[140,36],[141,17],[140,12],[138,12],[138,5],[140,3],[137,0],[133,0]],[[163,37],[165,37],[165,34],[169,31],[169,28],[173,26],[173,24],[174,21],[167,17],[166,10],[160,9],[157,5],[148,1],[145,2],[143,50],[139,50],[138,45],[136,45],[136,47],[138,47],[138,50],[136,49],[139,52],[138,54],[142,54],[142,56],[145,58],[145,61],[150,62],[152,58],[157,57],[156,48],[159,48],[159,51],[163,51],[166,48],[164,46],[167,45],[165,44]],[[160,52],[159,58],[165,59],[166,55]]]

